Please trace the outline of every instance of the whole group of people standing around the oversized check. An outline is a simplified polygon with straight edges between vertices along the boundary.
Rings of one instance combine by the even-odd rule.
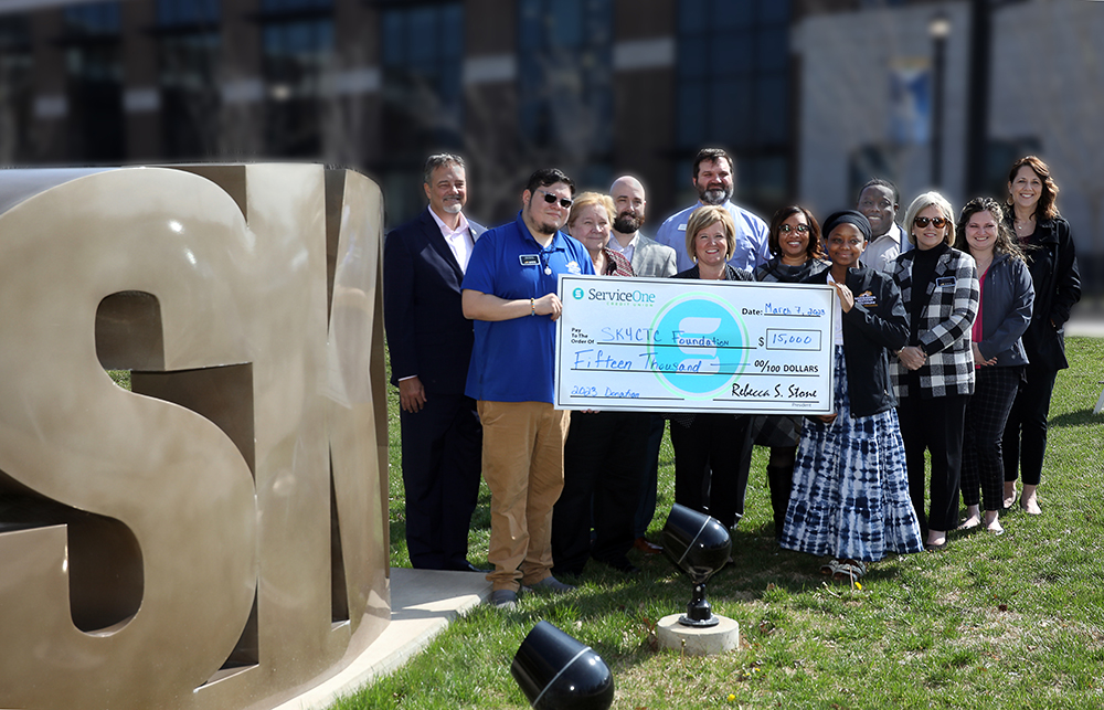
[[[1007,204],[977,198],[956,216],[925,192],[903,225],[896,188],[871,180],[822,232],[798,205],[769,225],[735,205],[723,150],[700,151],[691,180],[698,202],[655,240],[640,233],[637,179],[575,194],[556,169],[532,174],[513,222],[484,230],[463,214],[463,159],[427,160],[428,208],[384,244],[413,566],[475,570],[467,528],[480,473],[497,606],[522,589],[570,591],[556,575],[590,560],[633,573],[630,550],[660,551],[645,531],[665,415],[552,405],[560,274],[831,287],[834,413],[666,415],[676,502],[735,528],[752,447],[767,446],[779,544],[852,580],[887,553],[940,550],[958,527],[999,534],[1020,475],[1020,506],[1040,512],[1050,394],[1080,298],[1045,163],[1012,166]]]

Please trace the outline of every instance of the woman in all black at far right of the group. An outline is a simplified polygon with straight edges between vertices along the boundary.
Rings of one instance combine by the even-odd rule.
[[[1070,367],[1065,360],[1065,321],[1073,304],[1081,299],[1081,275],[1073,248],[1070,223],[1058,213],[1054,200],[1058,184],[1050,168],[1034,156],[1016,161],[1008,173],[1009,229],[1028,259],[1036,301],[1031,325],[1023,333],[1028,356],[1025,381],[1005,428],[1005,500],[1016,502],[1017,471],[1023,473],[1020,508],[1039,515],[1036,489],[1042,478],[1047,452],[1047,415],[1050,395],[1059,370]]]

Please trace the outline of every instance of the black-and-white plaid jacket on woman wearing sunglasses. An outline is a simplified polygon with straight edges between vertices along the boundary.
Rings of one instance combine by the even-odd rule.
[[[948,250],[935,265],[932,283],[923,295],[912,288],[912,266],[917,250],[898,257],[893,280],[901,287],[904,308],[912,314],[912,299],[925,298],[922,321],[917,328],[916,345],[927,353],[920,368],[920,392],[909,392],[907,370],[896,358],[892,359],[893,392],[898,398],[920,394],[924,399],[948,394],[974,393],[974,354],[970,349],[970,328],[977,316],[978,283],[974,257]]]

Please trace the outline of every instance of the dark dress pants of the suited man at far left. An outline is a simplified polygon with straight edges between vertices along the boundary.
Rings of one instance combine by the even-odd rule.
[[[422,411],[400,412],[399,421],[411,565],[465,569],[482,470],[476,402],[463,394],[427,392]]]

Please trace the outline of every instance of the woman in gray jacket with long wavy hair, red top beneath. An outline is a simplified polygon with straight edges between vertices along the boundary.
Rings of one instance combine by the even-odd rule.
[[[998,518],[1004,502],[1005,467],[1000,439],[1028,361],[1020,336],[1031,322],[1034,289],[1023,252],[1012,239],[996,200],[975,198],[966,203],[958,218],[955,246],[974,257],[980,284],[977,318],[970,331],[974,395],[966,404],[963,434],[966,520],[962,527],[981,524],[984,499],[985,528],[1001,534],[1005,529]]]

